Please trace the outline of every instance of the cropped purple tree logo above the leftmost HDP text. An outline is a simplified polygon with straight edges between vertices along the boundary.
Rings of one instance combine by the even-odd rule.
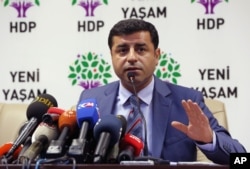
[[[37,5],[40,6],[39,0],[15,0],[14,2],[10,2],[10,0],[4,0],[3,6],[7,7],[13,7],[17,11],[17,17],[18,18],[26,18],[26,13],[28,9],[30,9],[32,6]]]

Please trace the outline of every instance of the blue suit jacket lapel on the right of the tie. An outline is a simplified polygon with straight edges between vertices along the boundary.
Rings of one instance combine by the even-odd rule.
[[[172,100],[167,97],[170,93],[166,83],[155,78],[152,112],[152,156],[154,157],[160,157],[163,149],[166,130],[169,124],[170,105],[172,102]]]

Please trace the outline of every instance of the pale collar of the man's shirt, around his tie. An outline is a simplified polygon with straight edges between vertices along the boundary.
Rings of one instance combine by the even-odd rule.
[[[128,100],[128,98],[132,95],[132,93],[122,85],[121,81],[119,83],[120,83],[118,91],[119,100],[121,101],[121,104],[124,105]],[[153,97],[153,89],[154,89],[154,76],[151,82],[144,89],[142,89],[140,92],[137,93],[138,97],[143,101],[143,103],[147,105],[150,104]]]

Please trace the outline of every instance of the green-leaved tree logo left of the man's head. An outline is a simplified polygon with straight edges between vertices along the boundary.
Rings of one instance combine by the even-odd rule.
[[[75,62],[69,66],[68,78],[72,85],[78,84],[84,89],[95,88],[108,83],[112,77],[111,66],[98,55],[89,52],[77,55]]]

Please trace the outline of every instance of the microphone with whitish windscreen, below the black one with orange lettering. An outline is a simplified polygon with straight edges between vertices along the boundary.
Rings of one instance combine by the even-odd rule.
[[[20,161],[32,162],[43,150],[46,150],[51,140],[58,137],[58,128],[55,124],[41,122],[32,135],[32,144],[20,156]]]

